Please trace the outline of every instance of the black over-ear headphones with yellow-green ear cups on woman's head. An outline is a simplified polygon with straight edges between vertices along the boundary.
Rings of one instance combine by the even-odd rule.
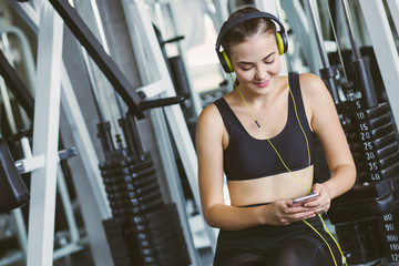
[[[274,16],[267,12],[252,12],[252,13],[247,13],[247,14],[243,14],[227,23],[225,23],[221,31],[217,37],[216,40],[216,54],[218,60],[221,61],[222,68],[226,73],[232,73],[234,72],[233,70],[233,65],[232,62],[226,53],[225,50],[221,51],[221,41],[223,40],[224,35],[235,25],[246,21],[246,20],[250,20],[250,19],[255,19],[255,18],[266,18],[266,19],[270,19],[274,22],[276,22],[279,25],[279,31],[277,31],[277,47],[278,47],[278,53],[282,55],[285,52],[287,52],[288,50],[288,39],[285,32],[285,28],[283,25],[283,23]]]

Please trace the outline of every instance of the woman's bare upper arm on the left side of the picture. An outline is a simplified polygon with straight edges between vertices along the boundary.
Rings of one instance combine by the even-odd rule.
[[[198,185],[203,212],[215,204],[223,204],[223,134],[225,127],[214,104],[200,115],[196,130]]]

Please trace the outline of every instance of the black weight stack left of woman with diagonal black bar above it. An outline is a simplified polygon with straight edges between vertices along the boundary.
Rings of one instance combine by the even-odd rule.
[[[135,125],[136,119],[144,117],[144,110],[175,104],[181,99],[143,101],[134,95],[133,88],[99,47],[74,9],[66,2],[50,2],[129,108],[120,120],[125,147],[119,143],[115,149],[110,124],[106,121],[99,123],[99,137],[105,153],[105,162],[100,164],[100,168],[113,216],[103,224],[115,265],[190,264],[178,213],[174,204],[163,203],[151,155],[141,146]],[[135,104],[132,99],[140,103]]]

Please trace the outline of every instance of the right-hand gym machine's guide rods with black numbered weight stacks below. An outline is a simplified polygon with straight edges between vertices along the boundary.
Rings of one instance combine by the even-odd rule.
[[[342,63],[346,82],[338,88],[335,79],[338,72],[329,65],[315,7],[310,0],[306,2],[324,66],[320,76],[336,103],[357,166],[356,185],[332,200],[328,217],[335,225],[349,265],[378,265],[383,257],[388,262],[398,262],[398,133],[389,103],[377,98],[369,65],[354,37],[348,4],[344,0],[341,3],[354,53],[350,66],[356,80],[355,85],[349,84]],[[344,101],[339,90],[345,94]],[[360,98],[357,96],[359,93]]]

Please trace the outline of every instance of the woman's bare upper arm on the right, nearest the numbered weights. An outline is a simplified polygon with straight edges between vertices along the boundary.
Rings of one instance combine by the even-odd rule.
[[[311,110],[311,127],[320,140],[330,171],[342,164],[354,165],[335,103],[325,83],[315,74],[300,76],[304,101]]]

